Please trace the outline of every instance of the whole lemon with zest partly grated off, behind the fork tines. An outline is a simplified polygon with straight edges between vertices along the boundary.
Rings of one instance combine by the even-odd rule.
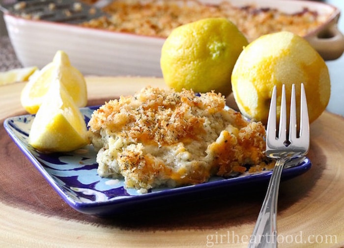
[[[239,110],[264,124],[274,85],[279,104],[282,84],[286,84],[289,106],[291,84],[295,83],[296,99],[300,99],[300,84],[304,83],[310,122],[320,116],[330,99],[325,61],[305,39],[287,31],[263,35],[250,43],[235,63],[231,83]]]

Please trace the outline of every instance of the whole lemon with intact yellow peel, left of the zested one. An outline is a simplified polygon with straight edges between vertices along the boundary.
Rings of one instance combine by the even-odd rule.
[[[172,30],[161,50],[165,83],[177,91],[231,92],[230,75],[248,44],[238,28],[225,18],[206,18]]]

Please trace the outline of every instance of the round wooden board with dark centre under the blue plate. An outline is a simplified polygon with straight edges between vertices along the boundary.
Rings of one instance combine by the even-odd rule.
[[[133,94],[157,78],[87,77],[88,105]],[[169,202],[109,218],[69,207],[6,134],[24,114],[23,83],[0,87],[0,247],[247,247],[266,185]],[[229,101],[231,104],[231,101]],[[344,118],[324,112],[311,125],[312,168],[280,187],[279,247],[344,247]]]

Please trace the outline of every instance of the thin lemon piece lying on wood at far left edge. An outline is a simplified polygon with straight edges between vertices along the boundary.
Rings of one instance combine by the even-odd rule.
[[[37,66],[30,66],[0,72],[0,85],[28,81],[29,77],[37,70]]]

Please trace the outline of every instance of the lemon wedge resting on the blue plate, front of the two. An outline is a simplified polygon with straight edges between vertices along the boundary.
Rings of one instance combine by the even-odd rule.
[[[67,89],[51,83],[32,122],[29,144],[40,151],[67,152],[88,143],[84,117]]]

